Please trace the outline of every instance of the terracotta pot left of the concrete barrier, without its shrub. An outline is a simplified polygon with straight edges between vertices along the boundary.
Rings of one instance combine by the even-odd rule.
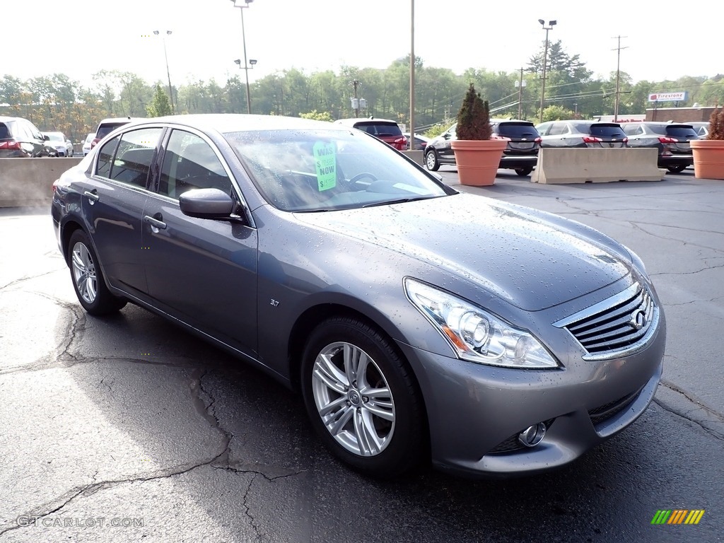
[[[481,187],[495,182],[500,157],[508,140],[452,140],[460,185]]]

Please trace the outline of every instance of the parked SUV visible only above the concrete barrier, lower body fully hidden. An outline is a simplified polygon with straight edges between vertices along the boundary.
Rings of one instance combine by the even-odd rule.
[[[618,122],[548,121],[537,125],[542,147],[626,147]]]

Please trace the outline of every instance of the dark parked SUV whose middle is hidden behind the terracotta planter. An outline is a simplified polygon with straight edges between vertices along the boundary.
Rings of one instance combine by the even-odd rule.
[[[540,136],[529,121],[515,119],[491,119],[493,135],[508,138],[508,146],[502,153],[499,168],[514,169],[518,175],[528,175],[538,162]],[[455,165],[455,153],[450,142],[455,140],[457,123],[433,138],[425,147],[425,166],[436,171],[440,164]]]

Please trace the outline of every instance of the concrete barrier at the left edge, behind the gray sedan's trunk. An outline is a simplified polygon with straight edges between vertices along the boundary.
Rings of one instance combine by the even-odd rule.
[[[0,159],[0,207],[50,206],[53,182],[83,157]]]

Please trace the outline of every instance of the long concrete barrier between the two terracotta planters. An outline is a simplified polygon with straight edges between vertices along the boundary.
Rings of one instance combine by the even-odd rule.
[[[656,148],[542,148],[531,181],[535,183],[599,183],[661,181]]]

